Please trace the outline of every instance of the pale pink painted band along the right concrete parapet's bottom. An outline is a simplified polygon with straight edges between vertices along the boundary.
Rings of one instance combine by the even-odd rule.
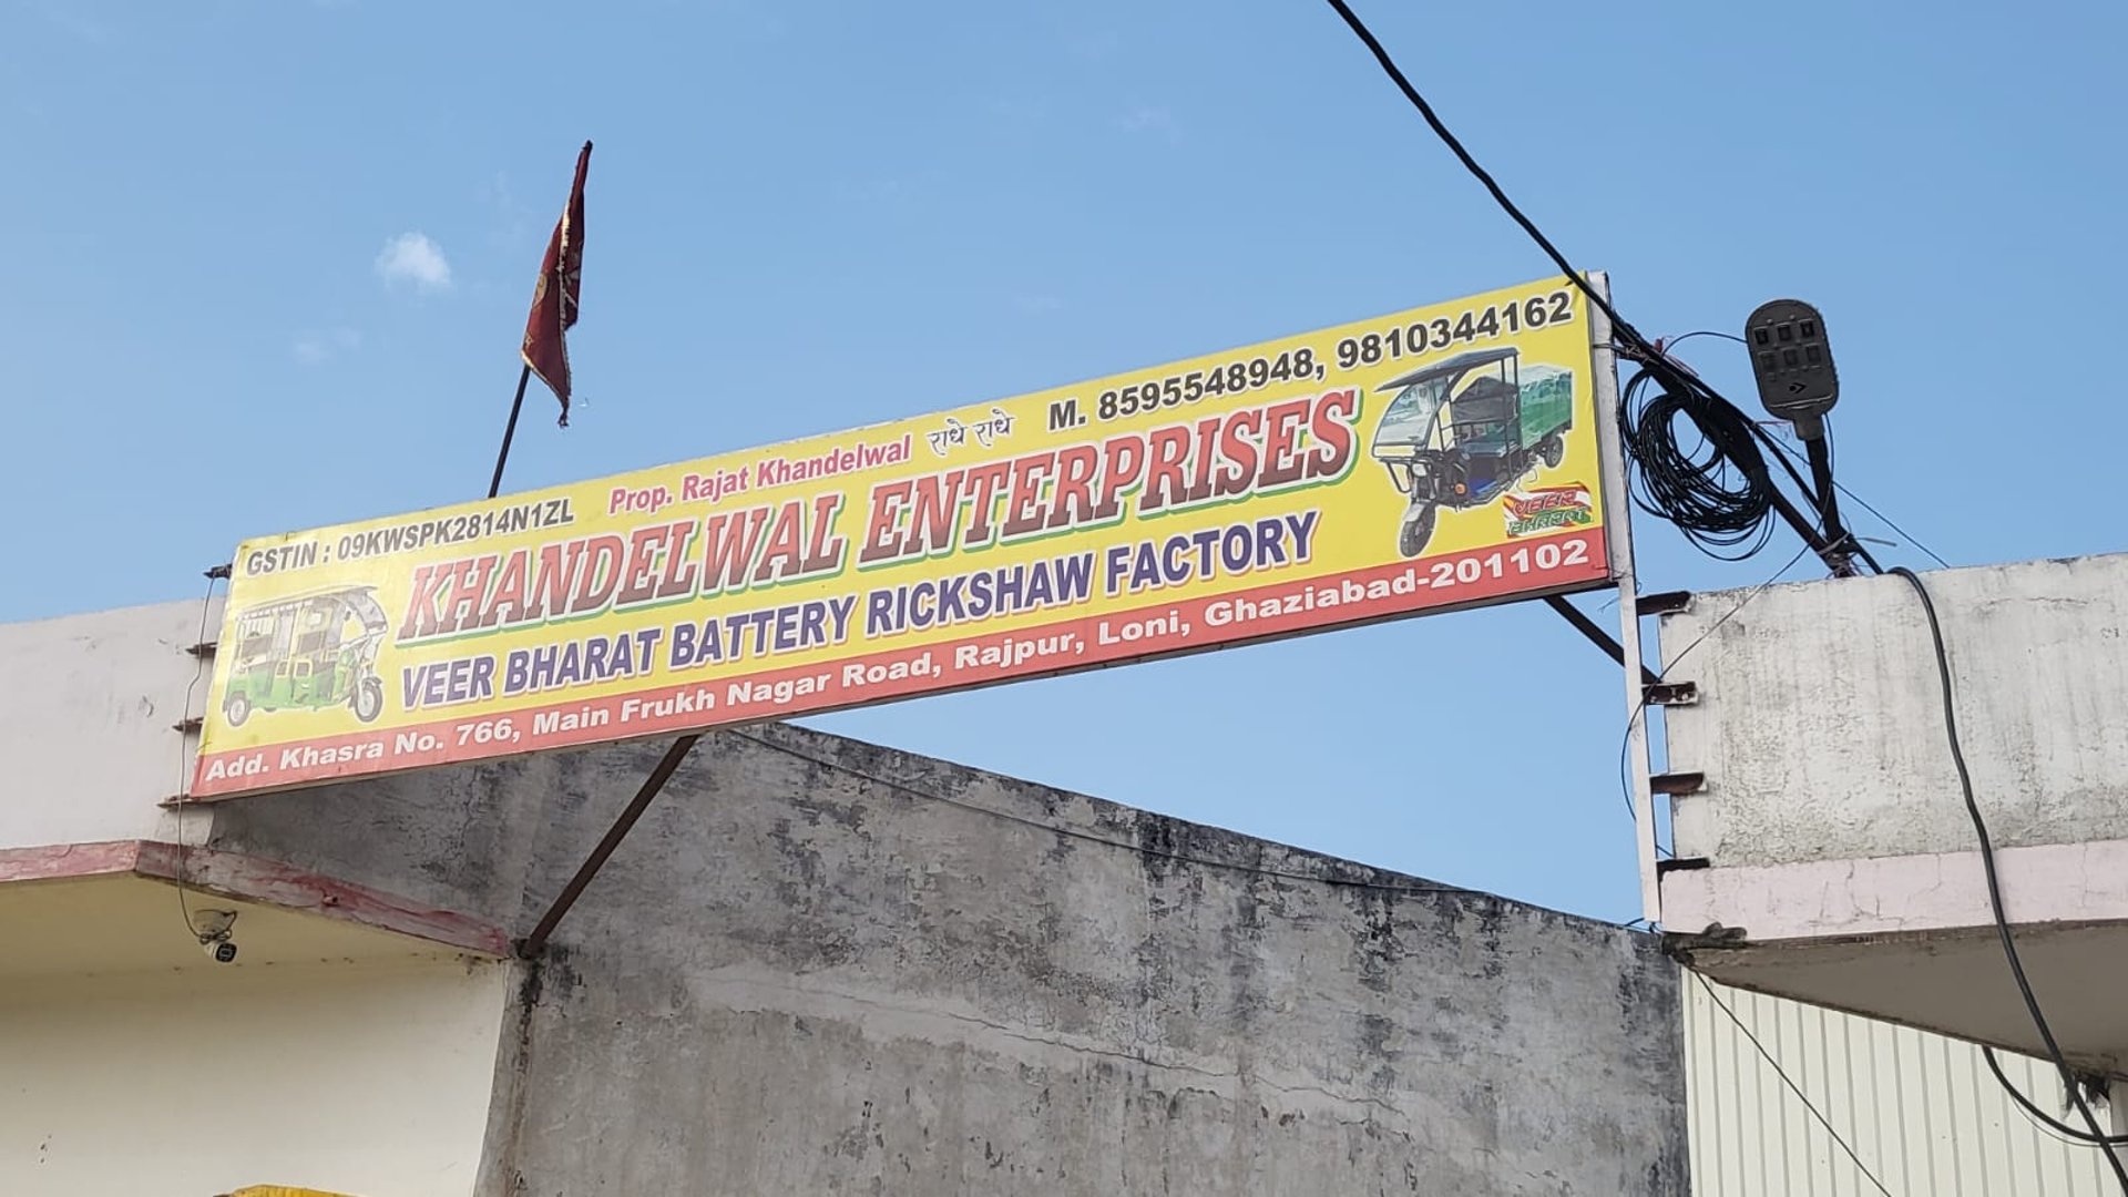
[[[2128,839],[1996,848],[2013,924],[2128,922]],[[1715,867],[1662,880],[1662,924],[1751,944],[1994,927],[1979,850]]]

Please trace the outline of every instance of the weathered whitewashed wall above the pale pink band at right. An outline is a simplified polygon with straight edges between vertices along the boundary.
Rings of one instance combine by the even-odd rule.
[[[2128,839],[2128,556],[1924,575],[1998,846]],[[1662,620],[1675,679],[1677,854],[1790,865],[1968,852],[1919,598],[1898,577],[1698,594]],[[1705,641],[1700,639],[1705,637]]]

